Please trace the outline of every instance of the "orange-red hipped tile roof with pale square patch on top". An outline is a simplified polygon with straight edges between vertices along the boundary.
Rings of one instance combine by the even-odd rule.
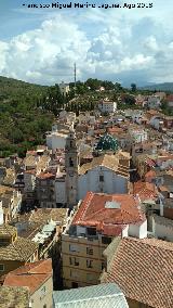
[[[125,224],[141,223],[144,219],[133,195],[88,192],[72,224],[95,226],[104,234],[119,235]]]

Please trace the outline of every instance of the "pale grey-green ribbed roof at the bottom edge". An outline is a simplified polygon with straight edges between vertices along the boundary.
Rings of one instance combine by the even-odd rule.
[[[116,283],[53,292],[55,308],[128,308],[122,291]]]

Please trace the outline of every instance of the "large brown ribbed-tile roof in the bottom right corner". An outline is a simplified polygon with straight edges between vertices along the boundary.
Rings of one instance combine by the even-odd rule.
[[[124,295],[155,308],[173,307],[173,243],[156,239],[122,239],[106,282]]]

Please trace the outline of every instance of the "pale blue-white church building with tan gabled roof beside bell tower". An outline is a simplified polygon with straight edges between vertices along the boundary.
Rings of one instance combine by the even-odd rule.
[[[121,165],[122,164],[122,165]],[[114,155],[95,157],[84,164],[78,176],[78,200],[85,196],[88,191],[108,194],[128,193],[129,161],[119,161]]]

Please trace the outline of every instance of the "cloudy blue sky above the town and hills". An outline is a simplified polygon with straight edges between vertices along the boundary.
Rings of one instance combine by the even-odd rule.
[[[27,8],[52,2],[70,3],[0,0],[0,75],[54,85],[74,79],[76,62],[80,80],[173,81],[173,0],[143,1],[152,8],[131,10]],[[124,2],[88,0],[97,7]]]

